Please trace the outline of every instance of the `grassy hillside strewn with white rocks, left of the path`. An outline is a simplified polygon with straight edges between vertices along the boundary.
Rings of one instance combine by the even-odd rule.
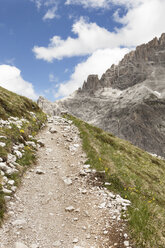
[[[0,87],[0,223],[6,202],[35,161],[35,135],[45,121],[35,102]]]

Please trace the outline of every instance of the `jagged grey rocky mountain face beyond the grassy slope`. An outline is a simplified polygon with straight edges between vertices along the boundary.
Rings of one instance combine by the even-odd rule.
[[[99,80],[90,75],[67,99],[42,109],[61,110],[165,157],[165,34],[138,46]],[[47,110],[49,109],[49,110]]]

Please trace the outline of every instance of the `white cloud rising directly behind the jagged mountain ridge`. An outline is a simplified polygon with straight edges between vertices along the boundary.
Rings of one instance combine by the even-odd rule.
[[[117,64],[128,53],[126,48],[104,49],[94,52],[86,61],[75,67],[74,73],[68,82],[60,84],[55,97],[67,96],[82,86],[89,74],[98,74],[99,77],[112,65]],[[100,63],[101,61],[101,63]]]

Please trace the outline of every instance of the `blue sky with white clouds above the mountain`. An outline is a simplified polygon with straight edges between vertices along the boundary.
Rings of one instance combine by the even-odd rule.
[[[165,32],[165,0],[0,0],[0,86],[55,101]]]

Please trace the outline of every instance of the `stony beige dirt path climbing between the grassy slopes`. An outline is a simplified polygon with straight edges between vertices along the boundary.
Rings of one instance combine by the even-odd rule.
[[[84,167],[77,128],[54,118],[39,139],[45,147],[8,204],[0,248],[130,247],[120,221],[126,203],[87,182],[94,172]]]

